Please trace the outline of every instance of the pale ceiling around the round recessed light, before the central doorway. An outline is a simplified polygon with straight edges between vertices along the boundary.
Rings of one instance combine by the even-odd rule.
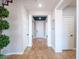
[[[25,8],[29,11],[51,11],[55,8],[60,0],[23,0]],[[39,8],[38,4],[42,7]]]

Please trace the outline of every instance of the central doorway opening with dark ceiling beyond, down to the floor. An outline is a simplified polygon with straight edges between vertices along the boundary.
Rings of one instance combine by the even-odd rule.
[[[46,38],[47,16],[33,16],[32,36],[33,38]]]

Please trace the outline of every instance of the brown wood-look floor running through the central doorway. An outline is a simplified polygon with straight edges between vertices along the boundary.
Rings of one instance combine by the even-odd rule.
[[[48,48],[46,39],[33,39],[32,48],[27,48],[23,55],[10,55],[7,59],[76,59],[76,52],[64,51],[55,53],[52,48]]]

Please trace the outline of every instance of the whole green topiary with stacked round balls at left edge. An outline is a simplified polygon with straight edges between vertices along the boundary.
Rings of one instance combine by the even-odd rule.
[[[9,29],[9,23],[5,20],[8,16],[9,11],[5,7],[0,6],[0,52],[10,43],[9,36],[2,34],[2,30]],[[0,59],[1,58],[3,59],[3,55],[0,53]]]

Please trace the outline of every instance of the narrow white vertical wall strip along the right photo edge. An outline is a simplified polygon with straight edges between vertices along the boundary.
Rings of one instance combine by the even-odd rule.
[[[77,59],[79,59],[79,0],[77,0],[77,21],[76,21],[76,25],[77,25],[77,40],[76,40],[76,42],[77,42],[77,55],[76,55],[76,58]]]

